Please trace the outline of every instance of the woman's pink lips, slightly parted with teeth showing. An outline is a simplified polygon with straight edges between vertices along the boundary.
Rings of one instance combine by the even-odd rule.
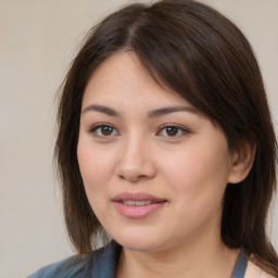
[[[121,215],[131,219],[139,219],[162,208],[167,200],[142,192],[123,192],[113,198],[113,202]]]

